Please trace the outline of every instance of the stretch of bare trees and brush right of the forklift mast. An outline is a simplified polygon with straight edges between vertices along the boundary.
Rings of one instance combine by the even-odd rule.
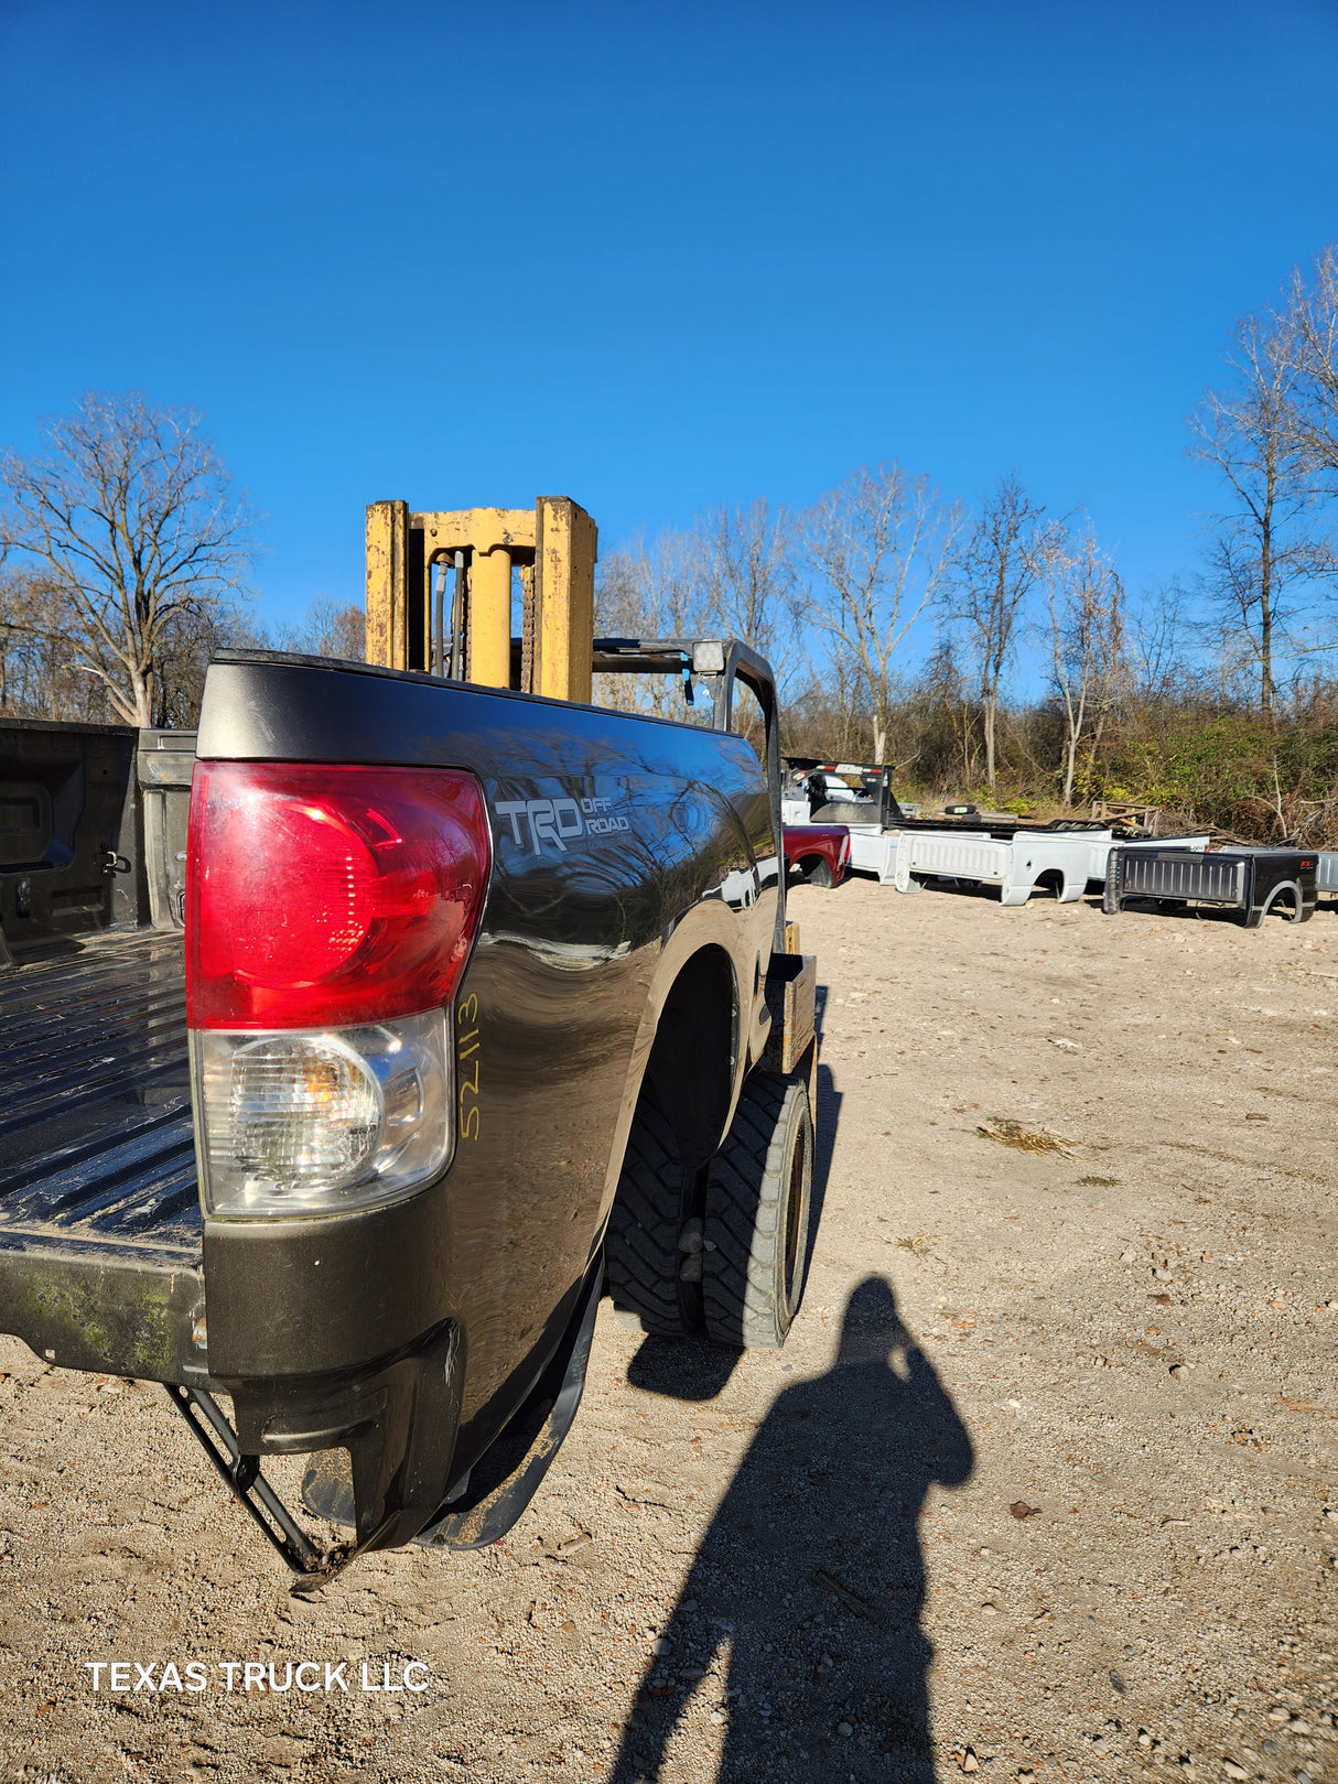
[[[1186,451],[1218,491],[1202,560],[1136,598],[1090,517],[1017,473],[967,505],[892,462],[615,551],[599,623],[755,639],[787,747],[892,762],[906,794],[1338,844],[1338,246],[1236,321]]]

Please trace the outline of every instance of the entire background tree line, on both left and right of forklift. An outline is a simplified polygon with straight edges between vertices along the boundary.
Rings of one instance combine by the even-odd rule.
[[[596,630],[747,639],[789,751],[892,762],[908,794],[1131,799],[1327,840],[1338,246],[1235,325],[1186,425],[1218,508],[1197,569],[1135,599],[1088,516],[1020,475],[967,503],[892,460],[806,508],[719,507],[605,553]],[[255,514],[196,412],[91,394],[45,435],[0,457],[0,714],[189,726],[223,644],[362,655],[357,607],[257,623]],[[690,715],[674,687],[599,681]]]

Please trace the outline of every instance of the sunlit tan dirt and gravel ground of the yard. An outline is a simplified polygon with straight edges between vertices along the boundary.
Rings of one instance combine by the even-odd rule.
[[[0,1775],[1338,1779],[1334,915],[794,915],[828,990],[790,1342],[731,1368],[605,1304],[501,1545],[298,1602],[162,1390],[4,1340]]]

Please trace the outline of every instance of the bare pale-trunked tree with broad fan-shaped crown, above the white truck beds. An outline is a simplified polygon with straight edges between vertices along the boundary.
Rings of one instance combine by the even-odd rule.
[[[896,460],[855,471],[803,519],[808,617],[831,640],[837,674],[855,671],[867,696],[876,762],[887,753],[897,649],[946,582],[958,524],[928,476]]]

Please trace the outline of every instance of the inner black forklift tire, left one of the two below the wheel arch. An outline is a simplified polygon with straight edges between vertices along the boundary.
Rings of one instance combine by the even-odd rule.
[[[626,1324],[657,1338],[701,1336],[701,1283],[683,1281],[680,1251],[696,1186],[671,1122],[642,1092],[608,1215],[605,1288]]]

